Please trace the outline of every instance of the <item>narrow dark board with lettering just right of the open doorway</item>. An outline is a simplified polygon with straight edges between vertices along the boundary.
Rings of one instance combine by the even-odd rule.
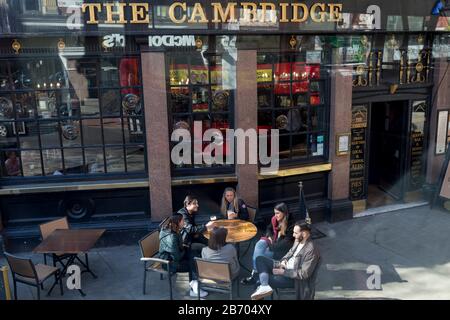
[[[413,103],[413,113],[411,117],[410,188],[412,190],[421,188],[424,181],[423,143],[425,133],[425,115],[426,115],[426,102],[415,101]]]

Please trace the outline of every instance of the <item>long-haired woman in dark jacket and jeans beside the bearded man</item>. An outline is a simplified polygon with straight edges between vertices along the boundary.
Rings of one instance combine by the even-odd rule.
[[[252,274],[241,281],[242,284],[253,284],[257,280],[256,258],[265,256],[271,259],[281,259],[294,243],[294,217],[289,214],[287,205],[279,203],[274,208],[274,215],[267,227],[266,235],[256,243],[253,251]]]

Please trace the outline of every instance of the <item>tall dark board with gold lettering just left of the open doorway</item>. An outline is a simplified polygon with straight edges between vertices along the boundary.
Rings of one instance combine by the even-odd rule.
[[[350,198],[365,197],[367,106],[352,109],[352,137],[350,148]]]

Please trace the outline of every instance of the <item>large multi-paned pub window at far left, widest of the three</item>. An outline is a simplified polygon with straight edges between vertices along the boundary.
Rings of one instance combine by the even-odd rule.
[[[137,56],[0,60],[3,178],[145,172]]]

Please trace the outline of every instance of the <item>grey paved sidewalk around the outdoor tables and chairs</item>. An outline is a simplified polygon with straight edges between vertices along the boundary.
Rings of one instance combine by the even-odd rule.
[[[317,299],[450,299],[450,213],[419,207],[316,226],[327,235],[316,240],[323,257]],[[251,252],[242,260],[247,266]],[[41,255],[20,255],[43,261]],[[55,288],[51,297],[43,294],[43,298],[168,299],[167,280],[153,274],[149,274],[147,295],[142,294],[143,267],[139,258],[137,245],[96,248],[89,262],[98,279],[83,274],[86,297],[67,288],[61,297]],[[5,261],[0,259],[3,264]],[[366,270],[370,265],[381,268],[380,290],[367,288]],[[175,299],[191,299],[187,274],[179,274],[174,283]],[[49,286],[50,282],[46,288]],[[251,287],[240,286],[240,298],[248,299],[252,291]],[[18,293],[19,299],[36,296],[34,288],[20,284]],[[209,297],[227,298],[220,294]]]

